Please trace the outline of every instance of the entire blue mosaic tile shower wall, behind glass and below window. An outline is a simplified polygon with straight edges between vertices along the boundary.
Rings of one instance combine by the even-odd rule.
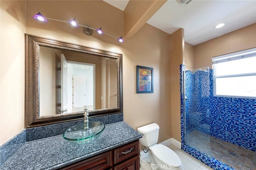
[[[214,97],[212,74],[185,73],[186,134],[198,130],[256,151],[256,100]]]

